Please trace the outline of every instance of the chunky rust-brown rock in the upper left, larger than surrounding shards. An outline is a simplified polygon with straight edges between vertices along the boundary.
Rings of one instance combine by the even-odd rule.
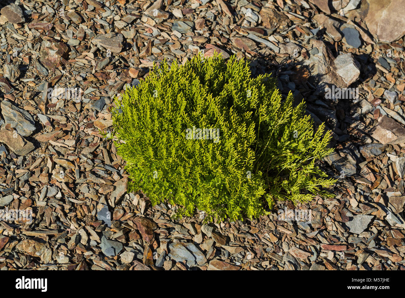
[[[60,66],[61,58],[66,59],[68,54],[68,47],[57,39],[48,37],[41,43],[41,50],[39,51],[40,62],[49,70],[53,70]]]

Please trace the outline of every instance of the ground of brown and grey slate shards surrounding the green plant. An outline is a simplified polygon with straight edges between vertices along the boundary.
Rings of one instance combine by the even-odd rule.
[[[405,270],[401,2],[2,1],[0,207],[32,221],[1,219],[1,270]],[[204,224],[126,193],[124,162],[99,133],[113,97],[153,62],[200,51],[249,58],[326,122],[333,199]],[[327,94],[349,86],[358,98]],[[283,220],[287,208],[311,220]]]

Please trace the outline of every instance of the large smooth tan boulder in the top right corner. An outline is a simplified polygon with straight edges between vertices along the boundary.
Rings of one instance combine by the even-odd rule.
[[[405,34],[403,0],[367,0],[364,22],[370,33],[380,41],[392,42]]]

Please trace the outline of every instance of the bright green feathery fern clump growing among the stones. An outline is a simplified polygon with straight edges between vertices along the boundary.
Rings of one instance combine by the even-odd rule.
[[[270,75],[251,77],[231,57],[195,56],[181,66],[156,65],[112,109],[117,153],[126,161],[129,191],[152,204],[168,200],[178,215],[253,218],[276,200],[308,202],[335,182],[315,165],[330,132],[314,133],[301,102],[283,99]]]

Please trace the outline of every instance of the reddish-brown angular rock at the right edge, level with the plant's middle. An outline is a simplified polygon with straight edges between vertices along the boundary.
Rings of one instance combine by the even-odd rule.
[[[371,129],[370,134],[384,145],[405,143],[405,128],[386,115],[378,119],[377,126]]]

